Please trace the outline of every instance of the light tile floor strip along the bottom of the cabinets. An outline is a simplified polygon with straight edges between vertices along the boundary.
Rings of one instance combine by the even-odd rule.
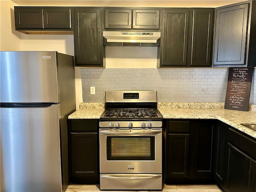
[[[69,185],[66,192],[99,192],[99,185]],[[124,191],[106,191],[106,192],[124,192]],[[136,191],[126,191],[136,192]],[[146,192],[146,191],[142,191]],[[154,192],[154,191],[150,191]],[[166,185],[162,192],[222,192],[216,185]]]

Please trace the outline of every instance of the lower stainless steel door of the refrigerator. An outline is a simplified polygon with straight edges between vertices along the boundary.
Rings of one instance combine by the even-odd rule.
[[[0,113],[2,191],[61,192],[58,105]]]

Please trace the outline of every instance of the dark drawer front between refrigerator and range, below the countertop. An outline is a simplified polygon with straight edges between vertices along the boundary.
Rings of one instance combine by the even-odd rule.
[[[74,131],[86,131],[86,132],[98,132],[98,120],[97,119],[82,119],[82,120],[71,120],[70,130]]]

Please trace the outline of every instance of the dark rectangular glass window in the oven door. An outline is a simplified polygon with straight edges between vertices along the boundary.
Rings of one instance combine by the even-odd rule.
[[[107,136],[107,160],[155,160],[155,137]]]

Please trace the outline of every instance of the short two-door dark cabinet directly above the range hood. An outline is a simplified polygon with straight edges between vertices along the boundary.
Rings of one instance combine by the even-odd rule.
[[[105,29],[159,29],[160,9],[105,9]]]

